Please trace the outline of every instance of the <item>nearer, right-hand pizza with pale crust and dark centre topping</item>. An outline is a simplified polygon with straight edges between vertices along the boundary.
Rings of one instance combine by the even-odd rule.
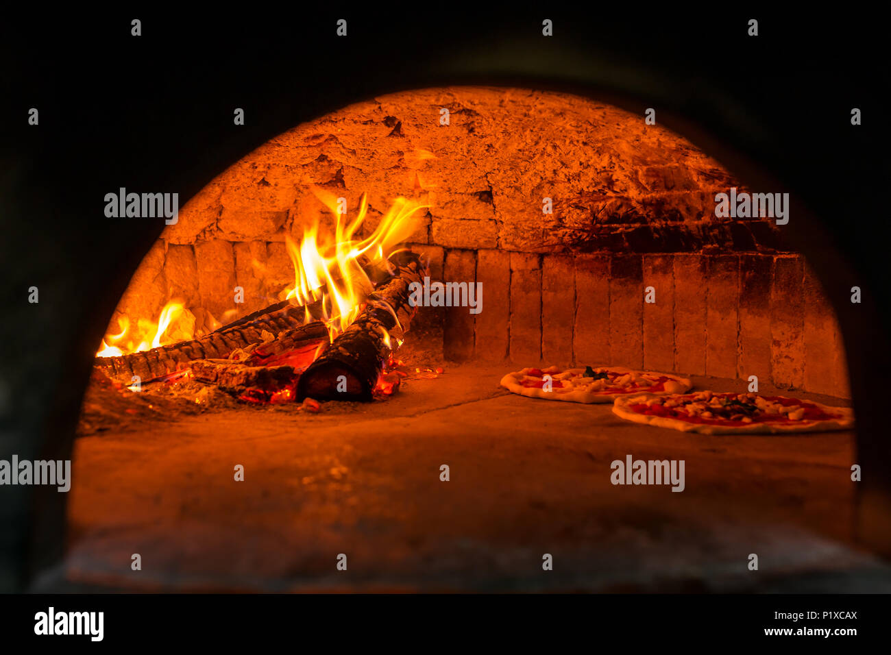
[[[626,396],[616,399],[613,413],[628,421],[702,434],[816,432],[854,425],[848,407],[755,393]]]

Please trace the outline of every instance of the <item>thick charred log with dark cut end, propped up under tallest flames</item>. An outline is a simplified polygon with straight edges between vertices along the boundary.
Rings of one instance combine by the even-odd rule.
[[[409,303],[412,282],[421,283],[424,266],[417,254],[398,252],[390,259],[393,277],[375,290],[347,329],[300,376],[297,399],[372,400],[372,392],[397,340],[408,331],[416,307]]]

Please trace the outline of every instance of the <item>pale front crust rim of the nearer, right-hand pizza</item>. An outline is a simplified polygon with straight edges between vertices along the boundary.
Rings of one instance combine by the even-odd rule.
[[[854,410],[850,407],[833,407],[807,400],[824,412],[840,414],[837,419],[828,421],[796,421],[788,423],[740,423],[739,425],[709,425],[708,423],[692,423],[670,416],[651,416],[632,411],[630,405],[641,402],[642,397],[655,394],[636,394],[630,397],[617,398],[613,403],[613,413],[635,423],[655,425],[668,430],[682,432],[698,432],[699,434],[789,434],[792,432],[826,432],[829,430],[849,430],[854,427]],[[679,394],[680,395],[680,394]]]

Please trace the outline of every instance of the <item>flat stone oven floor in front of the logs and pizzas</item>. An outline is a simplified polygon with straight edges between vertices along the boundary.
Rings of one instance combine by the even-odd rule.
[[[852,433],[683,434],[625,422],[610,405],[509,394],[497,385],[510,368],[454,366],[386,402],[320,414],[245,406],[78,438],[65,569],[45,585],[891,589],[886,565],[854,544]],[[683,459],[685,490],[613,486],[610,463],[626,454]]]

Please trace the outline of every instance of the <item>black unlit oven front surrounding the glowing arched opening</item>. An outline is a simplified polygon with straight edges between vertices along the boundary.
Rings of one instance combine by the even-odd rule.
[[[884,407],[888,137],[884,20],[862,7],[604,13],[541,4],[247,4],[190,15],[10,15],[0,27],[0,458],[70,455],[96,345],[163,219],[104,217],[104,194],[179,192],[307,119],[373,94],[527,86],[657,111],[749,187],[790,192],[791,242],[845,332],[858,413],[864,543],[891,508]],[[143,36],[130,36],[130,20]],[[335,35],[347,19],[348,36]],[[544,18],[554,36],[541,36]],[[759,36],[748,37],[748,20]],[[29,108],[40,124],[28,125]],[[244,109],[246,125],[233,125]],[[862,110],[853,127],[850,112]],[[850,287],[862,305],[849,302]],[[29,287],[40,302],[29,304]],[[878,368],[879,375],[872,373]],[[0,591],[57,561],[64,495],[0,487]]]

